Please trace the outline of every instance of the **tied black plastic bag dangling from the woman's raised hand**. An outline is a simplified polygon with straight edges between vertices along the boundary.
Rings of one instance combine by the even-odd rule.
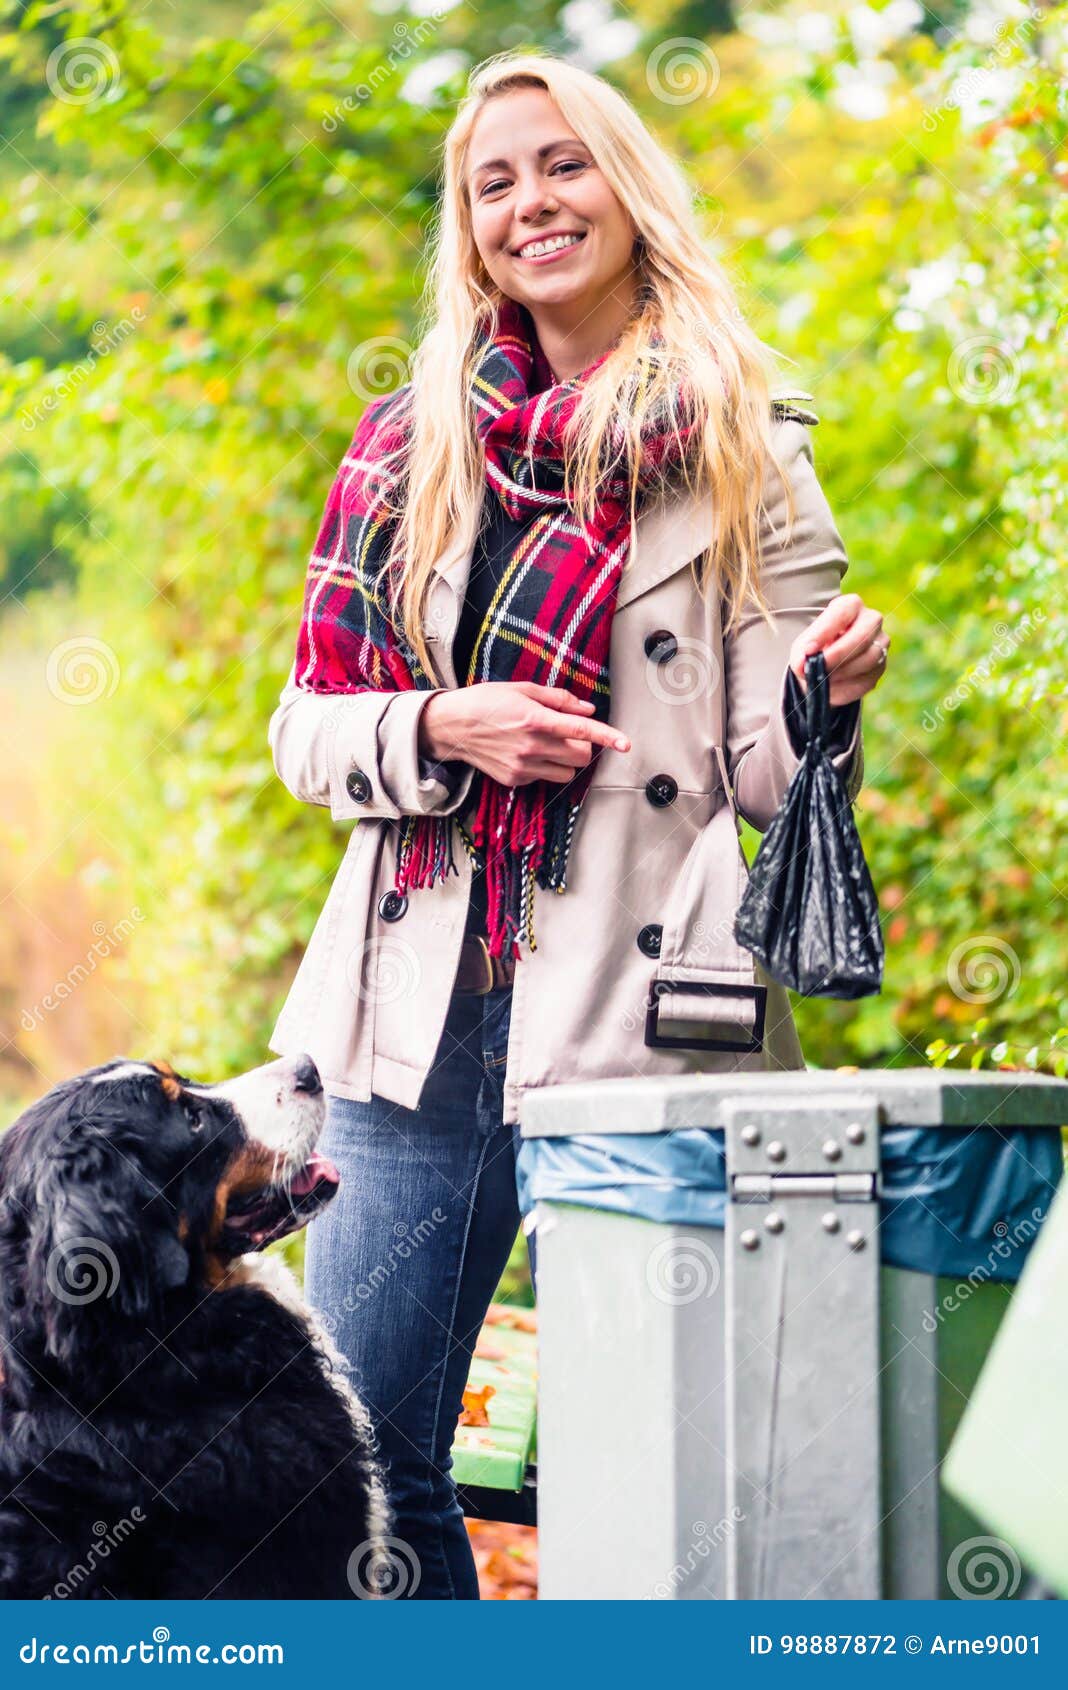
[[[735,940],[801,997],[882,989],[879,901],[845,784],[826,750],[828,673],[804,659],[804,757],[760,840]]]

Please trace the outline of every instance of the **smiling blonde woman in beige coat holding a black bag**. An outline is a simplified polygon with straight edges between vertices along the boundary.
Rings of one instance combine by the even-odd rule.
[[[815,649],[855,796],[889,639],[838,592],[815,417],[774,402],[678,166],[608,83],[548,56],[473,74],[429,301],[330,493],[270,722],[286,786],[358,823],[272,1048],[330,1095],[343,1183],[306,1286],[375,1418],[390,1594],[455,1599],[478,1587],[450,1448],[517,1234],[520,1100],[803,1066],[732,936],[738,816],[766,828],[798,767]]]

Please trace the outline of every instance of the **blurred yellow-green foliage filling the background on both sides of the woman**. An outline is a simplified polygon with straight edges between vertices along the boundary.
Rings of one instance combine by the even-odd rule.
[[[526,37],[561,44],[559,10],[524,14]],[[885,992],[798,1006],[806,1049],[1061,1071],[1066,8],[1041,34],[887,44],[865,122],[835,95],[858,61],[845,22],[816,51],[793,12],[771,46],[747,14],[715,39],[715,98],[673,101],[644,14],[608,74],[816,395],[845,585],[894,642],[858,804]],[[110,965],[130,1053],[223,1073],[264,1060],[345,845],[265,742],[306,554],[367,397],[402,379],[458,66],[517,25],[504,5],[477,39],[466,8],[154,15],[3,7],[0,563],[42,668],[61,634],[112,654],[115,686],[41,757],[42,853],[63,843],[112,909],[144,911]],[[725,22],[710,8],[708,34]],[[113,56],[100,98],[49,91],[61,29]],[[441,52],[448,79],[402,98]],[[984,68],[997,103],[965,122]],[[37,1031],[15,1046],[47,1066]]]

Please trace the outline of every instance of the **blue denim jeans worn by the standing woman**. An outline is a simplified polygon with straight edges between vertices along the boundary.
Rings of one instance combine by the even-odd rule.
[[[510,987],[453,994],[417,1109],[328,1098],[321,1148],[341,1190],[309,1227],[304,1288],[375,1423],[399,1540],[390,1594],[419,1600],[478,1599],[450,1452],[519,1230],[510,1009]]]

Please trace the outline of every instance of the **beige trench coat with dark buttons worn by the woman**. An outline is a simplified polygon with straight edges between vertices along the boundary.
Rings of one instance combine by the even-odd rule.
[[[789,647],[840,592],[847,558],[806,424],[779,421],[774,448],[798,500],[784,548],[781,482],[766,492],[760,566],[774,632],[754,610],[723,644],[717,595],[698,593],[688,568],[708,544],[705,500],[673,492],[635,524],[608,659],[610,720],[629,735],[630,750],[600,752],[571,843],[568,889],[537,889],[534,897],[536,948],[520,946],[512,994],[509,1122],[519,1119],[524,1093],[541,1085],[804,1066],[786,992],[732,935],[747,877],[738,815],[764,831],[798,767],[784,717]],[[471,531],[434,566],[426,634],[441,690],[456,684],[451,642],[473,546]],[[657,632],[678,644],[666,661],[651,641]],[[458,874],[409,891],[397,921],[379,913],[395,869],[389,823],[460,810],[473,779],[468,767],[450,791],[421,759],[419,713],[431,696],[324,696],[299,690],[291,671],[269,727],[274,766],[294,798],[328,806],[335,821],[358,823],[270,1049],[309,1051],[328,1092],[362,1100],[375,1092],[412,1109],[444,1026],[471,882],[456,840]],[[853,737],[835,757],[850,799],[864,769],[860,708],[855,715]],[[649,788],[657,776],[671,777],[668,793],[671,782],[678,788],[668,803],[654,803],[664,794],[662,784]],[[654,980],[727,989],[661,997],[652,1036],[686,1038],[689,1046],[646,1043]],[[759,1048],[700,1048],[710,1038],[754,1044],[754,987],[767,987]]]

